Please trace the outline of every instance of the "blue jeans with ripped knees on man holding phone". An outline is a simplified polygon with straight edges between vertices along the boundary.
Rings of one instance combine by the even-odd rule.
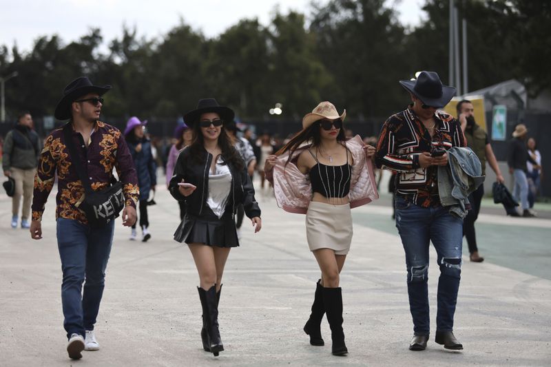
[[[408,297],[413,332],[430,333],[428,308],[428,246],[437,252],[440,267],[437,293],[437,331],[453,331],[453,316],[461,279],[463,220],[444,207],[418,207],[409,200],[396,197],[396,227],[406,252]]]

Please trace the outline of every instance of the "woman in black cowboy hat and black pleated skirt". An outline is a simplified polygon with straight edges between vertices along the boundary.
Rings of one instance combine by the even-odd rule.
[[[224,125],[233,121],[233,111],[214,98],[201,99],[184,120],[194,130],[194,142],[178,156],[169,191],[185,200],[187,213],[174,239],[185,242],[199,273],[202,306],[201,339],[206,351],[224,350],[218,330],[218,302],[222,273],[232,247],[239,246],[235,215],[242,204],[260,231],[260,208],[245,163],[231,145]]]

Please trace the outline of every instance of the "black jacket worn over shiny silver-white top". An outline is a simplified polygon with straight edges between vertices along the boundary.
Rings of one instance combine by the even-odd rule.
[[[189,147],[185,147],[178,155],[174,174],[169,183],[169,191],[176,200],[185,200],[188,214],[201,216],[207,206],[207,198],[209,197],[209,168],[213,156],[203,149],[202,151],[207,159],[204,164],[200,164],[189,156],[190,150]],[[238,171],[231,163],[228,163],[228,167],[231,172],[231,191],[226,209],[231,205],[231,212],[235,215],[237,205],[242,204],[247,217],[260,217],[260,207],[258,207],[258,202],[254,198],[253,183],[249,174],[247,174],[247,168]],[[182,179],[197,187],[190,196],[183,196],[178,190],[178,182],[182,182]]]

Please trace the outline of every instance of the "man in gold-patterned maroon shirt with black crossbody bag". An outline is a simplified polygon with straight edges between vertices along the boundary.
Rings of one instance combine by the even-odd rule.
[[[44,205],[56,174],[58,177],[56,224],[63,270],[61,303],[65,316],[63,326],[69,339],[67,353],[72,359],[81,358],[83,349],[99,349],[94,324],[103,295],[115,222],[91,230],[84,211],[79,209],[85,189],[73,163],[79,162],[83,167],[94,191],[110,186],[116,167],[125,197],[123,225],[131,227],[136,222],[139,190],[132,156],[123,134],[98,120],[103,106],[101,96],[110,88],[110,85],[93,85],[86,77],[77,78],[65,87],[55,116],[59,120],[70,120],[64,128],[70,129],[78,157],[70,155],[64,128],[56,129],[45,140],[34,178],[30,233],[34,240],[40,240]]]

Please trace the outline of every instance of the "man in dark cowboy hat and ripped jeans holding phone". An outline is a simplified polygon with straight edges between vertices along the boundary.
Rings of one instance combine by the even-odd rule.
[[[444,348],[462,349],[453,335],[453,317],[461,274],[463,220],[441,205],[438,166],[448,165],[446,149],[464,147],[466,140],[457,120],[438,111],[455,94],[442,85],[435,72],[421,72],[416,81],[400,81],[411,96],[404,111],[384,123],[375,162],[397,172],[395,184],[396,227],[406,253],[413,339],[410,350],[424,350],[430,333],[428,308],[428,247],[438,255],[438,311],[436,342]]]

